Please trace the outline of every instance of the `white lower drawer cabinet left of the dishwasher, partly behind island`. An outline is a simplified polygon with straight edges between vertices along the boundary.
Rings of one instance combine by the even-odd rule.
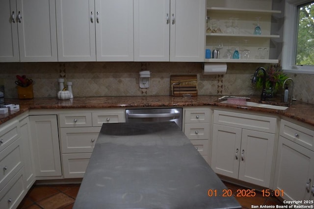
[[[82,178],[103,123],[125,122],[125,110],[67,111],[59,114],[64,178]]]

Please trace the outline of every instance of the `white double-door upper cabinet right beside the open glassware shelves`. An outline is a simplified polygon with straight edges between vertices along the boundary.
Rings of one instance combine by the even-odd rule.
[[[134,0],[134,61],[204,61],[205,0]]]

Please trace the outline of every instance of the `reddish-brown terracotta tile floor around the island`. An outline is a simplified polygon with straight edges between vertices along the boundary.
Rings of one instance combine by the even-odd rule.
[[[243,187],[224,182],[235,192]],[[79,184],[71,185],[34,185],[23,199],[18,209],[72,209],[78,194]],[[251,209],[251,205],[282,205],[274,197],[262,197],[257,192],[255,197],[238,197],[242,209]]]

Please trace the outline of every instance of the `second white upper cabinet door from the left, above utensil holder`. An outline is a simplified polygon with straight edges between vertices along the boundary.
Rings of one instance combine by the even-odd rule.
[[[54,0],[16,0],[21,62],[57,61]]]

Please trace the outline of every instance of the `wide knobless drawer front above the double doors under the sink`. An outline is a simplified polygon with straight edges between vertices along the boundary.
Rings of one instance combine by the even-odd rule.
[[[276,132],[277,119],[274,117],[256,116],[215,110],[213,122],[220,125],[227,125],[274,134]]]

